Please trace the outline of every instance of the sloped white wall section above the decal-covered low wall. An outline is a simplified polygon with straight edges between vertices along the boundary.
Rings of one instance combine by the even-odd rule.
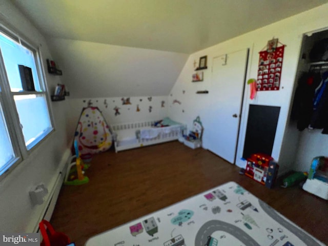
[[[71,98],[168,95],[188,57],[69,39],[48,42]]]

